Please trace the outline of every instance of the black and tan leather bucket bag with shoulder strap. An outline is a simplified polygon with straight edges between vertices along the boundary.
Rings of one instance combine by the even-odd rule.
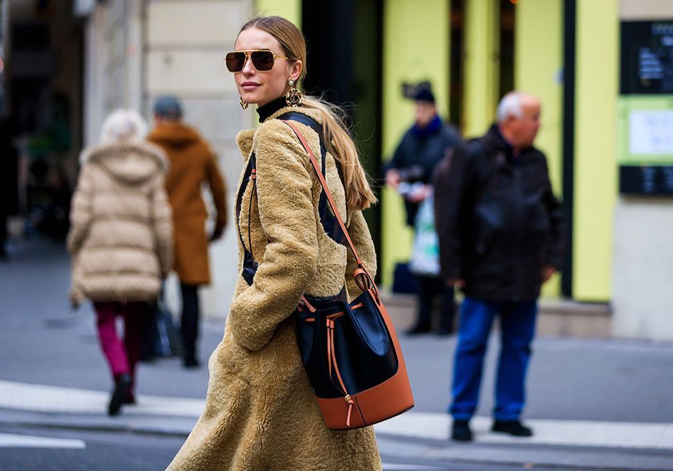
[[[398,336],[379,290],[357,254],[325,177],[306,138],[292,121],[314,166],[332,213],[357,263],[353,276],[362,293],[347,302],[302,298],[294,313],[297,341],[309,382],[330,429],[373,425],[408,411],[414,397]]]

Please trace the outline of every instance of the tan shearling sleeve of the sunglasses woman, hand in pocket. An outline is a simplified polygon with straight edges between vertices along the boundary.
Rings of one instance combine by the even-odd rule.
[[[233,301],[229,326],[237,342],[259,350],[296,309],[317,271],[318,236],[308,157],[278,120],[255,136],[259,220],[268,241],[253,284]]]

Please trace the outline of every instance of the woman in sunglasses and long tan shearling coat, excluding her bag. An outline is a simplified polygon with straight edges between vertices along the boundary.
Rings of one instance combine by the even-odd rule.
[[[246,158],[236,205],[241,275],[210,358],[205,412],[169,470],[381,469],[371,427],[325,426],[297,348],[292,314],[302,296],[330,302],[361,291],[350,276],[344,290],[355,259],[343,237],[325,232],[336,221],[320,203],[321,183],[298,137],[277,118],[292,119],[324,155],[325,180],[348,214],[352,241],[367,270],[376,268],[361,212],[375,196],[338,115],[300,92],[306,55],[301,31],[280,17],[250,20],[227,55],[241,106],[257,104],[262,125],[237,137]]]

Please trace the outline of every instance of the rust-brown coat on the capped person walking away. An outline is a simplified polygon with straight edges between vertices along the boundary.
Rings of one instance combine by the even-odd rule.
[[[176,273],[184,284],[209,284],[208,212],[201,197],[204,184],[210,188],[216,209],[215,232],[227,224],[225,185],[217,157],[194,128],[180,121],[162,123],[148,140],[163,148],[171,163],[166,189],[173,208]]]

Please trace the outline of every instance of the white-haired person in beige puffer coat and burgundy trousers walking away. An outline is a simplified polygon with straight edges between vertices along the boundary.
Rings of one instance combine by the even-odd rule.
[[[164,189],[168,161],[144,142],[137,112],[105,119],[101,142],[80,157],[68,250],[73,256],[71,301],[94,302],[98,334],[114,377],[108,412],[134,403],[136,363],[161,281],[173,259],[171,207]],[[115,319],[124,320],[123,343]]]

